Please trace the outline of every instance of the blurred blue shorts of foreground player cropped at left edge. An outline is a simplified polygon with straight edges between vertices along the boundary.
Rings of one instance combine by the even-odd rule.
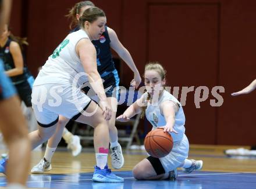
[[[15,87],[13,87],[9,77],[6,76],[2,60],[0,59],[0,100],[8,99],[14,95],[16,95]]]

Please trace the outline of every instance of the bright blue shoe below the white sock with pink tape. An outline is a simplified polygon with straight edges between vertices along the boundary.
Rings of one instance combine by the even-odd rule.
[[[98,166],[94,167],[93,181],[100,183],[123,183],[124,179],[113,174],[111,169],[108,169],[108,165],[106,165],[104,169]]]

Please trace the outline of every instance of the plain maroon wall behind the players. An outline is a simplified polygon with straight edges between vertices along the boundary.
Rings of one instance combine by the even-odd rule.
[[[35,76],[69,32],[64,15],[76,2],[14,0],[10,25],[14,34],[28,37],[27,64]],[[182,87],[194,86],[183,106],[190,143],[256,144],[255,92],[230,96],[256,79],[256,1],[93,2],[104,9],[108,26],[129,49],[141,74],[146,62],[158,60],[167,70],[168,85],[180,87],[179,99]],[[129,85],[132,73],[125,63],[120,77]],[[225,87],[220,107],[210,105],[216,85]],[[199,86],[209,88],[209,97],[195,108]]]

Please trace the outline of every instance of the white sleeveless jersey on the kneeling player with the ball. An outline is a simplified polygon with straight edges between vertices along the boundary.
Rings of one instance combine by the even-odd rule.
[[[147,94],[145,94],[145,97],[147,97]],[[160,105],[165,101],[173,101],[179,105],[179,110],[175,114],[175,124],[173,126],[173,129],[176,130],[178,134],[172,132],[170,133],[170,135],[172,135],[173,142],[180,141],[182,140],[183,135],[185,133],[185,115],[180,102],[175,97],[173,97],[173,95],[171,95],[169,92],[163,90],[163,94],[159,98],[157,104],[151,104],[150,102],[148,102],[147,109],[145,110],[145,115],[148,121],[152,124],[152,129],[165,126],[166,120],[160,111]]]

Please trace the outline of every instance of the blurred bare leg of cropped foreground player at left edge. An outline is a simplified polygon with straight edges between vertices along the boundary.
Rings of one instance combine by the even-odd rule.
[[[19,109],[17,97],[0,101],[0,111],[0,129],[9,148],[9,160],[6,169],[8,181],[25,185],[31,148],[27,137],[26,121]]]

